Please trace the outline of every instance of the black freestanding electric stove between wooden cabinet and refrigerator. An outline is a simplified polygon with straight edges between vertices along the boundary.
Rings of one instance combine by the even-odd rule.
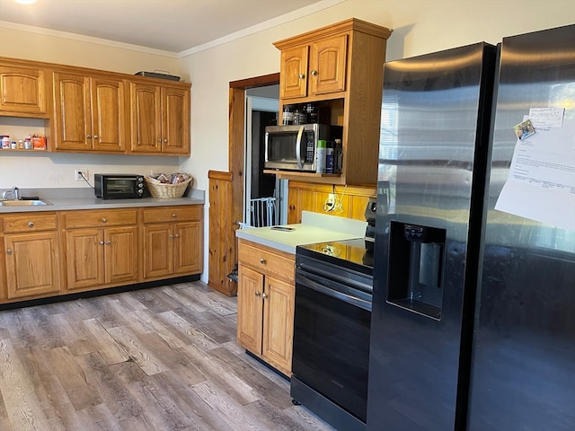
[[[372,264],[364,238],[296,248],[290,393],[345,431],[366,427]]]

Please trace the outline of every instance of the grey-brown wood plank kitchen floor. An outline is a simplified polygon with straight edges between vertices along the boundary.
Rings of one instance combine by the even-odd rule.
[[[0,312],[0,430],[333,430],[201,282]]]

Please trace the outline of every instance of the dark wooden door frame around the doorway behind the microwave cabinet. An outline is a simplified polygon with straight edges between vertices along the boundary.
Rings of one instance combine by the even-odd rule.
[[[279,84],[279,73],[230,83],[228,170],[232,173],[232,220],[243,221],[243,160],[245,158],[245,91]],[[279,107],[278,107],[279,108]],[[237,253],[235,253],[237,257]],[[237,261],[237,259],[235,259]]]

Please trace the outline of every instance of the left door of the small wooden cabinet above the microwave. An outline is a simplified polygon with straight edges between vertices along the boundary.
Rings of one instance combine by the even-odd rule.
[[[308,46],[281,51],[279,98],[305,97],[307,94]]]

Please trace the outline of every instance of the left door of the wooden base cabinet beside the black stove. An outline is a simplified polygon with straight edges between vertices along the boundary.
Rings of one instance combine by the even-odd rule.
[[[261,354],[261,325],[263,307],[263,275],[238,266],[237,283],[237,341],[255,354]]]

